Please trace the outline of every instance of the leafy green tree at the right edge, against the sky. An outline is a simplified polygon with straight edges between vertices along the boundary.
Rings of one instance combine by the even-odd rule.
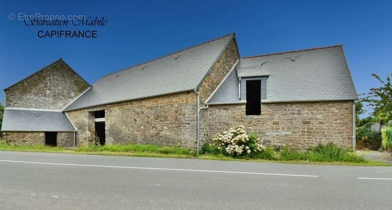
[[[368,103],[373,108],[372,115],[382,124],[392,123],[392,85],[391,76],[388,75],[386,81],[378,75],[372,74],[380,83],[381,87],[370,88],[370,91],[361,100]]]

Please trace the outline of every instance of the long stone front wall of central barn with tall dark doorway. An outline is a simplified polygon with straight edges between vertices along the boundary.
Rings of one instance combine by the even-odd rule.
[[[68,111],[77,128],[77,144],[95,138],[94,110],[105,109],[106,144],[155,144],[195,147],[196,94],[183,92],[113,105]]]

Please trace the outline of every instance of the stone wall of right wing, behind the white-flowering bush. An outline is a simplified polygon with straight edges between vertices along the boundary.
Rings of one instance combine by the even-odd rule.
[[[243,105],[211,105],[208,140],[229,127],[244,125],[264,145],[306,149],[332,142],[352,145],[352,101],[262,104],[261,115],[245,115]]]

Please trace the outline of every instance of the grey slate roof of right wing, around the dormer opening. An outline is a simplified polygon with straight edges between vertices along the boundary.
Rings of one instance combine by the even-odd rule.
[[[342,45],[245,57],[236,68],[237,77],[269,74],[265,103],[357,99]],[[215,94],[227,95],[226,89],[238,88],[234,79],[227,80],[233,82],[224,81]],[[238,101],[215,94],[208,103]]]

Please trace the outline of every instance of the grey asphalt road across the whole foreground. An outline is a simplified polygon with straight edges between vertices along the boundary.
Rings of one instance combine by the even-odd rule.
[[[391,195],[391,167],[0,151],[1,210],[391,210]]]

